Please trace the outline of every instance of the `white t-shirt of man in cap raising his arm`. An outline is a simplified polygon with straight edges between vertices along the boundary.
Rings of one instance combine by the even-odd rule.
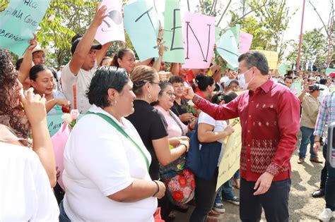
[[[71,109],[74,109],[74,85],[76,85],[77,109],[81,113],[86,113],[90,109],[90,103],[86,97],[86,90],[90,86],[90,80],[93,78],[98,63],[95,60],[93,68],[86,71],[80,69],[77,75],[70,70],[70,63],[67,63],[61,71],[61,87],[66,99],[71,101]]]

